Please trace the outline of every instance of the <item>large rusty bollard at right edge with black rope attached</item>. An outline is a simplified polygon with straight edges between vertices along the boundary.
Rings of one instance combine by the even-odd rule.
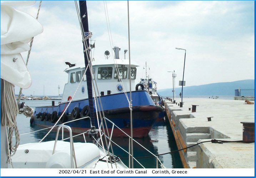
[[[253,143],[255,135],[255,125],[254,122],[240,122],[243,124],[243,142]]]

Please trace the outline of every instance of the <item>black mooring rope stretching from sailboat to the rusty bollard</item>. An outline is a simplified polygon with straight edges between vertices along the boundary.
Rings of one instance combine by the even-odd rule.
[[[170,151],[170,152],[167,152],[167,153],[162,153],[162,154],[159,154],[159,155],[155,155],[155,156],[162,156],[162,155],[167,155],[167,154],[170,154],[170,153],[175,153],[177,151],[182,151],[182,150],[186,150],[188,148],[191,148],[191,147],[194,147],[196,145],[199,145],[201,143],[206,143],[206,142],[212,142],[212,143],[241,143],[243,142],[242,140],[238,140],[238,141],[227,141],[227,140],[216,140],[216,139],[212,139],[212,140],[209,140],[209,141],[202,141],[202,142],[199,142],[199,143],[196,143],[195,145],[191,145],[191,146],[188,146],[186,148],[182,148],[180,150],[175,150],[175,151]],[[149,157],[154,157],[154,155],[150,155],[150,156],[142,156],[142,157],[136,157],[136,159],[140,159],[140,158],[149,158]],[[129,159],[129,158],[122,158],[120,157],[121,159]]]

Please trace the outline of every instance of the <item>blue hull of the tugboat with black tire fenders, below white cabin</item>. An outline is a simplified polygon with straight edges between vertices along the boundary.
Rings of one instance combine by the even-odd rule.
[[[128,98],[130,94],[127,93]],[[117,127],[122,129],[128,135],[130,135],[130,109],[129,104],[124,93],[112,94],[101,96],[101,103],[103,107],[104,115],[107,119],[114,122]],[[61,112],[65,109],[66,103],[61,103],[58,106],[44,106],[36,107],[32,122],[36,125],[41,125],[44,127],[49,127],[54,125],[49,117],[47,121],[46,117],[42,120],[42,113],[52,114],[54,111],[57,112],[57,119],[61,115]],[[74,120],[74,114],[72,115],[72,110],[74,108],[79,108],[80,115],[81,111],[85,106],[89,105],[88,99],[72,101],[69,108],[66,110],[66,120]],[[94,108],[95,115],[96,110]],[[100,110],[102,111],[102,110]],[[149,93],[147,91],[132,91],[132,116],[133,116],[133,136],[134,137],[145,137],[148,135],[154,122],[159,117],[159,113],[162,109],[154,104]],[[39,114],[40,113],[40,114]],[[79,115],[79,114],[78,114]],[[82,116],[77,116],[81,118]],[[61,123],[58,123],[61,124]],[[91,122],[87,120],[78,120],[66,124],[71,126],[72,131],[75,133],[85,132],[90,129]],[[98,128],[97,120],[95,120],[95,126]],[[106,128],[106,127],[105,127]],[[108,123],[107,128],[111,131],[112,124]],[[124,133],[118,129],[114,129],[113,136],[126,136]]]

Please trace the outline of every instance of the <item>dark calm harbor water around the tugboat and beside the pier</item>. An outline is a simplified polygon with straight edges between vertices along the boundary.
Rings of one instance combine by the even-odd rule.
[[[53,100],[53,101],[55,101],[55,105],[56,105],[60,100]],[[27,106],[30,106],[31,108],[35,109],[36,106],[50,106],[52,103],[52,100],[25,100],[23,102],[25,102]],[[30,125],[30,118],[24,116],[23,114],[17,115],[17,126],[20,133],[20,144],[39,142],[49,131],[49,129],[41,130],[44,128],[34,124]],[[41,130],[41,131],[37,131],[37,130]],[[56,132],[51,132],[44,139],[44,141],[55,140],[55,136],[56,136],[55,133]],[[121,146],[126,151],[128,151],[128,148],[129,148],[128,138],[116,137],[116,138],[113,138],[112,140],[115,143],[117,143],[117,145]],[[160,155],[163,153],[168,153],[168,152],[177,150],[175,139],[172,134],[168,119],[156,121],[147,137],[135,138],[135,140],[139,142],[142,146],[147,148],[147,150],[154,153],[154,155]],[[83,137],[74,138],[74,142],[83,142],[83,141],[84,141]],[[112,146],[113,146],[114,154],[116,156],[119,156],[121,160],[126,164],[126,166],[129,166],[128,154],[122,151],[119,147],[115,146],[115,144],[112,144]],[[137,160],[145,168],[156,167],[156,158],[152,157],[149,152],[146,152],[144,148],[139,146],[136,142],[134,142],[133,149],[134,149],[134,157],[138,158]],[[139,158],[139,157],[145,157],[145,158]],[[161,155],[159,156],[159,159],[166,168],[183,168],[180,160],[179,152]],[[142,167],[138,163],[134,162],[134,168],[142,168]]]

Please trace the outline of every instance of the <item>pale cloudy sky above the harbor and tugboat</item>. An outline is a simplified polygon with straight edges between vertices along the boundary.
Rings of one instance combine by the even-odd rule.
[[[158,89],[254,79],[255,5],[254,1],[129,1],[130,53],[137,69],[137,83],[150,78]],[[36,17],[39,1],[32,6],[15,7]],[[111,51],[104,1],[87,1],[89,30],[95,40],[93,57],[105,59]],[[127,1],[106,1],[114,46],[128,48]],[[62,93],[68,66],[84,64],[81,32],[74,1],[42,1],[39,19],[44,32],[34,38],[28,69],[32,85],[25,95]],[[22,56],[26,60],[27,53]],[[126,53],[129,59],[129,53]],[[60,90],[58,89],[60,86]],[[128,89],[127,89],[128,90]],[[19,88],[15,87],[15,94]]]

